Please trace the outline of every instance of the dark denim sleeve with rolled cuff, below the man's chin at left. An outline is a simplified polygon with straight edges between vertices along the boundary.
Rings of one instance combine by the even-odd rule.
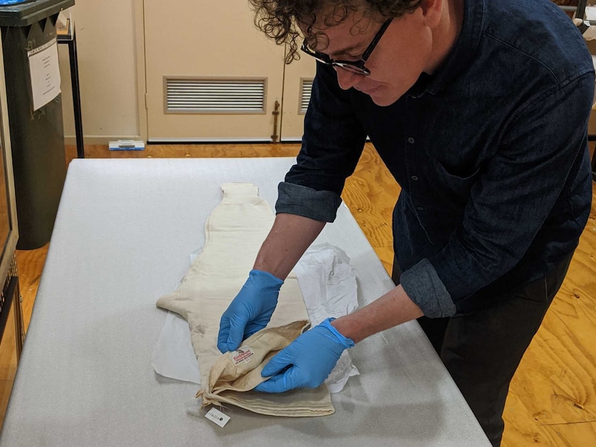
[[[364,148],[366,133],[335,69],[317,62],[296,164],[279,184],[277,213],[333,222],[340,194]]]

